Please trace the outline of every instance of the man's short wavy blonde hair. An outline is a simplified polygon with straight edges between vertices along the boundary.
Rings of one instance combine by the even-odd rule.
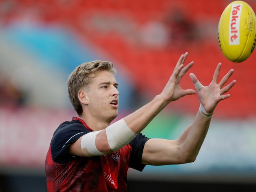
[[[117,72],[113,67],[113,63],[109,61],[95,60],[82,63],[69,75],[69,79],[67,81],[69,99],[79,116],[82,116],[83,108],[78,99],[78,92],[82,87],[87,87],[90,84],[92,74],[96,74],[102,70],[109,71],[112,74],[116,74]]]

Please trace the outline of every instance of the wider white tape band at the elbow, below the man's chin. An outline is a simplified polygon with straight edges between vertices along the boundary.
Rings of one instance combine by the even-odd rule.
[[[109,147],[117,151],[130,142],[137,134],[121,119],[106,128]]]

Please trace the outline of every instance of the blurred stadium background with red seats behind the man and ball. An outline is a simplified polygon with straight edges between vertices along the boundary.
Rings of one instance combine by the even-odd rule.
[[[55,129],[77,116],[67,78],[85,61],[117,68],[117,120],[165,86],[181,54],[208,85],[218,62],[237,84],[220,102],[193,163],[129,170],[128,192],[256,191],[256,53],[228,61],[217,26],[230,0],[0,0],[0,192],[45,192]],[[256,1],[246,0],[256,11]],[[229,82],[230,82],[229,81]],[[188,74],[181,83],[194,88]],[[195,118],[197,96],[171,103],[143,131],[176,139]]]

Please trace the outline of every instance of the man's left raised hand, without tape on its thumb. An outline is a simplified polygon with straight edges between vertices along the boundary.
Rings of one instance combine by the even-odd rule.
[[[182,77],[186,74],[186,72],[193,66],[194,62],[190,62],[187,66],[184,66],[184,63],[187,59],[188,53],[186,52],[184,55],[180,56],[178,63],[176,64],[173,74],[171,75],[169,81],[167,82],[165,88],[161,92],[161,96],[163,96],[166,102],[172,102],[178,100],[179,98],[189,95],[196,94],[197,92],[193,89],[182,89],[180,87],[180,81]]]

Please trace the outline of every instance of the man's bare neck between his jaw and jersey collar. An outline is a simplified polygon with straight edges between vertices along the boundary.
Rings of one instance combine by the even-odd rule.
[[[81,119],[90,127],[90,129],[93,129],[93,131],[105,129],[110,125],[109,121],[103,121],[89,115],[82,115]]]

